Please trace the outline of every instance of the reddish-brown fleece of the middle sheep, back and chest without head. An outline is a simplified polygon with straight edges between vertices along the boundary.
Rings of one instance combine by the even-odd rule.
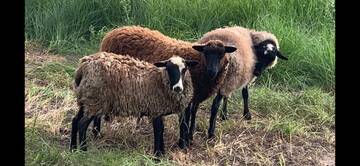
[[[102,40],[100,51],[128,54],[150,63],[169,59],[172,55],[187,60],[197,60],[199,64],[190,69],[194,88],[193,100],[202,102],[213,95],[223,83],[228,59],[223,58],[220,62],[222,68],[215,80],[207,80],[205,59],[192,46],[190,42],[170,38],[156,30],[125,26],[108,32]]]

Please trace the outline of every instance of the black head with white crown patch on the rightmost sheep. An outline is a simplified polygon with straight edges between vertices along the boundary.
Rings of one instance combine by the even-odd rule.
[[[283,56],[277,49],[276,43],[273,40],[268,39],[262,41],[254,46],[254,50],[257,57],[254,75],[257,77],[259,77],[266,68],[273,66],[278,57],[283,60],[288,60],[288,58]]]

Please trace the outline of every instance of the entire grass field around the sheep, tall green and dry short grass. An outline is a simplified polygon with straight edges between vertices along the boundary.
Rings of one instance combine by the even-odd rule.
[[[334,165],[334,0],[27,0],[25,10],[26,165]],[[146,118],[104,123],[103,138],[89,134],[88,152],[70,153],[78,59],[122,25],[187,41],[229,25],[266,30],[289,61],[250,88],[251,121],[241,117],[240,91],[232,96],[230,120],[218,120],[215,140],[206,140],[209,99],[187,151],[176,146],[176,116],[166,118],[167,154],[160,163],[152,160]]]

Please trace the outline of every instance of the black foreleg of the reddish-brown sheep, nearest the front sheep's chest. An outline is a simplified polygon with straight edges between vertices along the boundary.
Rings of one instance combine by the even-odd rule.
[[[188,145],[188,134],[189,134],[189,120],[190,120],[190,109],[192,103],[186,107],[184,114],[180,114],[179,123],[180,123],[180,138],[178,141],[178,146],[181,149],[184,149]]]

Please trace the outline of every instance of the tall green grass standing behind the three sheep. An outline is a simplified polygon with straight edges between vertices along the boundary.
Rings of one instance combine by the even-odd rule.
[[[335,89],[334,0],[27,0],[26,40],[55,52],[86,55],[105,32],[142,25],[195,41],[207,31],[240,25],[274,33],[289,61],[268,71],[262,85]]]

